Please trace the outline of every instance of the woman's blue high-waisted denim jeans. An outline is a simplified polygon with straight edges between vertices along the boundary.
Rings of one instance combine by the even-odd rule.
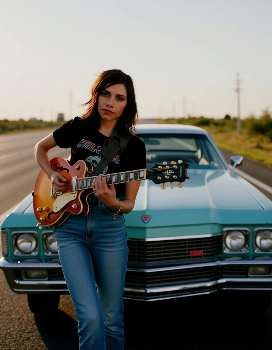
[[[80,350],[123,350],[125,220],[90,197],[86,216],[71,214],[54,229],[59,258],[76,311]]]

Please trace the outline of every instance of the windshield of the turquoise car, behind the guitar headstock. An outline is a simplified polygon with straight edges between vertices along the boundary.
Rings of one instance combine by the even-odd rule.
[[[214,146],[203,134],[137,134],[145,143],[147,167],[181,159],[190,169],[226,169]]]

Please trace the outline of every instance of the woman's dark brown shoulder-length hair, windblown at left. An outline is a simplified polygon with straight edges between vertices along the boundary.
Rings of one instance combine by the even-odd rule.
[[[121,134],[133,134],[135,133],[135,125],[138,123],[138,111],[133,81],[129,75],[119,69],[110,69],[100,73],[91,89],[91,99],[82,104],[83,106],[88,105],[88,108],[81,118],[89,119],[95,127],[100,127],[100,114],[97,110],[98,96],[104,89],[114,84],[124,84],[127,89],[127,105],[118,118],[116,128]]]

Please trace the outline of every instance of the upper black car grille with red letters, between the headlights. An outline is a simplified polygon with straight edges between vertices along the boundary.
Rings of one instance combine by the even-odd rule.
[[[156,241],[128,239],[128,261],[149,264],[182,259],[209,258],[221,253],[221,239],[221,235]],[[194,255],[191,252],[194,252]]]

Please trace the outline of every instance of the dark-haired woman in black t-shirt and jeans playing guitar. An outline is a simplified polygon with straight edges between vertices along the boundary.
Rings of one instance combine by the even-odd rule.
[[[126,148],[102,174],[146,168],[144,143],[133,135],[138,120],[132,79],[121,70],[102,72],[82,117],[67,121],[35,146],[38,165],[57,191],[65,177],[54,172],[49,149],[71,147],[71,163],[81,159],[95,167],[105,140],[116,129],[132,134]],[[124,348],[123,290],[128,246],[123,214],[135,203],[141,181],[106,184],[102,175],[93,183],[86,216],[71,214],[54,229],[59,258],[75,306],[80,350]],[[97,291],[96,291],[97,289]]]

